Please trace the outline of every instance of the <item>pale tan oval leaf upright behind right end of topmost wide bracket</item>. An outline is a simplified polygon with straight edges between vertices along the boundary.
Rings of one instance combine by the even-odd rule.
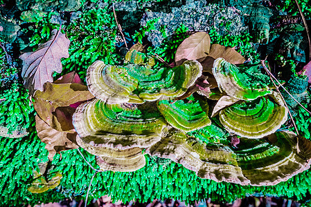
[[[211,38],[206,32],[196,32],[185,39],[177,48],[175,62],[177,65],[182,59],[196,60],[206,57],[211,47]]]

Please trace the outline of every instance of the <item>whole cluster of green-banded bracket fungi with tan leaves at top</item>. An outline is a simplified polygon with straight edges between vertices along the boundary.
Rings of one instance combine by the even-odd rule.
[[[191,39],[202,39],[201,45],[191,46]],[[253,186],[278,184],[308,169],[304,138],[278,131],[288,110],[260,64],[243,64],[233,48],[211,45],[206,32],[184,42],[188,48],[181,43],[172,67],[155,66],[139,45],[127,52],[125,66],[89,66],[87,87],[96,99],[78,106],[73,126],[78,145],[96,155],[100,168],[138,170],[148,153],[204,179]],[[239,137],[238,147],[187,133],[217,116]]]

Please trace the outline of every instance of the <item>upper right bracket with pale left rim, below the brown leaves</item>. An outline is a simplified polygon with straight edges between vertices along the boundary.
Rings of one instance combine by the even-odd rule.
[[[224,90],[231,97],[254,100],[272,93],[268,87],[269,77],[260,72],[258,65],[238,67],[217,58],[212,70],[220,91]]]

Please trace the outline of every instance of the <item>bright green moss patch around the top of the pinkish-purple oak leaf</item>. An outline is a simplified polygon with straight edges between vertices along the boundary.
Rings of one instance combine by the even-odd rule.
[[[114,21],[114,14],[109,10],[109,5],[104,8],[93,8],[87,10],[83,8],[82,14],[78,19],[70,21],[69,25],[63,25],[69,40],[69,58],[62,59],[64,70],[62,73],[54,73],[56,78],[71,72],[77,71],[82,81],[85,82],[87,68],[96,60],[102,60],[106,64],[115,64],[121,60],[116,54],[116,32],[117,26]],[[86,9],[86,10],[85,10]],[[44,17],[35,21],[33,28],[24,29],[24,32],[33,33],[30,35],[29,46],[37,46],[48,40],[53,29],[60,26],[51,23],[53,15],[57,12],[49,12]],[[34,47],[33,50],[36,48]]]

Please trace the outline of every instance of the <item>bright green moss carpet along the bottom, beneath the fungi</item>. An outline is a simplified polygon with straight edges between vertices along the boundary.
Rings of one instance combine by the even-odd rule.
[[[77,150],[62,152],[61,160],[59,155],[55,156],[52,164],[56,166],[55,170],[60,170],[63,175],[60,186],[37,195],[29,193],[26,189],[30,184],[30,178],[33,177],[32,169],[37,169],[37,163],[47,161],[48,152],[44,149],[44,144],[32,134],[26,139],[8,140],[2,137],[0,146],[0,172],[4,175],[0,183],[1,206],[19,206],[23,202],[34,205],[38,201],[48,203],[65,197],[85,199],[94,171]],[[97,168],[93,155],[84,150],[82,154]],[[311,193],[309,171],[276,186],[251,187],[200,179],[194,172],[174,162],[162,166],[148,156],[146,160],[146,166],[136,172],[98,173],[91,185],[89,201],[103,195],[112,195],[113,201],[122,199],[124,203],[132,199],[145,202],[156,198],[180,199],[188,203],[206,197],[211,197],[212,201],[230,202],[256,192],[301,200],[307,193]]]

